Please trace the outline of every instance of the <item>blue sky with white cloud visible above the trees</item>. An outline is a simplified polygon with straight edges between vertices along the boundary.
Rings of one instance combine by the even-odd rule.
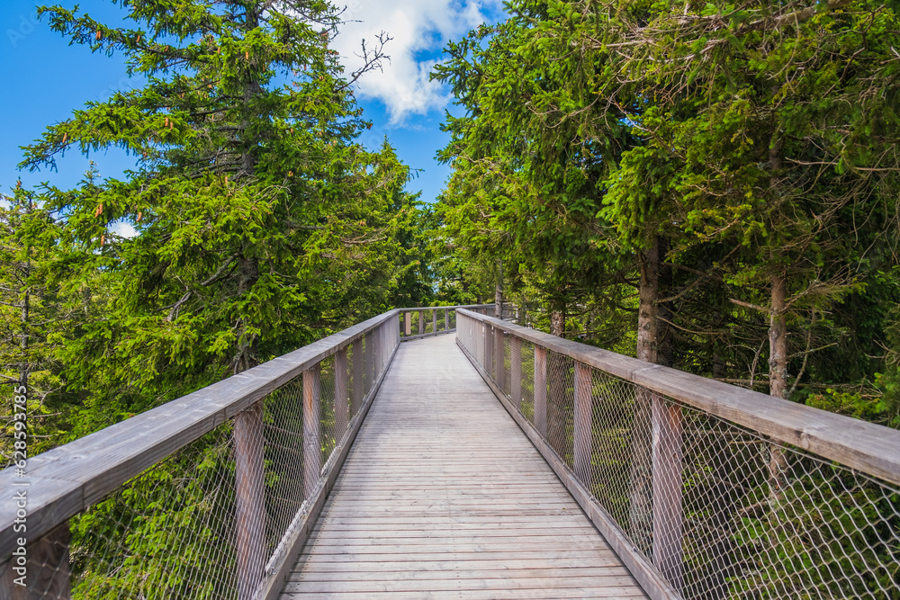
[[[49,3],[53,4],[53,3]],[[58,0],[72,7],[75,0]],[[81,10],[95,19],[115,26],[122,12],[108,0],[80,0]],[[377,148],[386,135],[404,163],[420,169],[407,185],[410,192],[422,192],[432,201],[443,189],[449,169],[435,160],[446,145],[439,129],[444,111],[450,107],[445,87],[428,82],[428,71],[441,58],[446,40],[456,40],[482,21],[500,19],[499,0],[344,0],[347,24],[335,48],[346,57],[348,72],[353,69],[363,39],[386,31],[392,41],[391,56],[383,72],[374,71],[359,83],[356,96],[373,121],[363,142]],[[92,54],[82,46],[49,30],[46,20],[38,21],[34,0],[0,2],[0,81],[4,92],[0,108],[4,115],[0,142],[0,191],[7,192],[21,177],[33,186],[48,181],[61,188],[74,186],[84,175],[88,158],[75,152],[59,161],[58,172],[18,171],[20,146],[31,143],[49,124],[63,121],[85,102],[105,99],[113,90],[134,86],[125,73],[121,56]],[[133,165],[130,157],[111,150],[90,157],[101,175],[117,176]]]

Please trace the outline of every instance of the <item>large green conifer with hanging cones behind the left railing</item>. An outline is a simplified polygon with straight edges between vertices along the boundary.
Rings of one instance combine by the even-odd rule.
[[[90,173],[43,198],[51,278],[99,300],[67,345],[69,383],[126,416],[382,309],[408,170],[355,142],[370,125],[353,83],[383,52],[364,47],[365,66],[345,75],[331,4],[117,4],[130,27],[39,13],[72,43],[122,53],[147,84],[48,127],[22,166],[111,147],[136,159],[121,179]],[[136,235],[116,234],[120,222]]]

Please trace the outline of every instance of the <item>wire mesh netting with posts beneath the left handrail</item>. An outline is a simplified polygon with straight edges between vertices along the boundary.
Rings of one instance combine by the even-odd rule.
[[[73,598],[251,598],[399,343],[391,319],[70,520]],[[68,597],[68,591],[43,597]]]

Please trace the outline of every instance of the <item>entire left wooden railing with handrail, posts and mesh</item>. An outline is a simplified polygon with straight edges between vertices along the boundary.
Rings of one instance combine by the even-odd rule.
[[[410,315],[450,333],[455,308],[390,310],[0,472],[0,597],[274,597]]]

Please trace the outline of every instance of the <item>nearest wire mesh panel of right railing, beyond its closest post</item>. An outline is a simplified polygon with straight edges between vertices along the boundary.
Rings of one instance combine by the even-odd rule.
[[[684,589],[900,597],[900,489],[680,403]]]

